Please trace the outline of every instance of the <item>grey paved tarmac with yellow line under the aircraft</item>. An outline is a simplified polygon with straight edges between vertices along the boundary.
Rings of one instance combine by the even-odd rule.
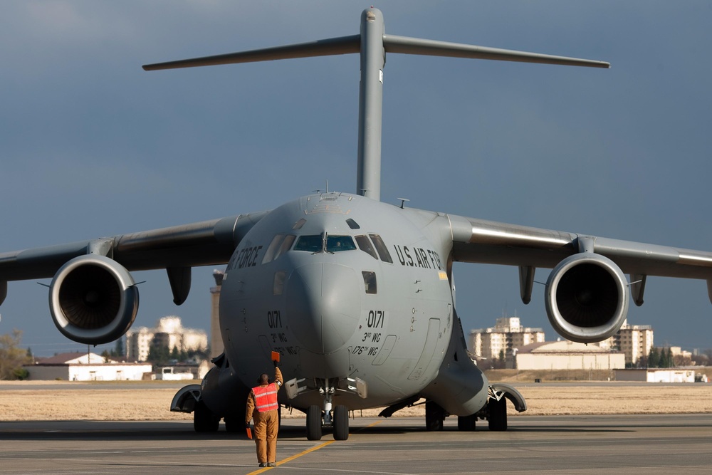
[[[191,422],[0,422],[0,474],[710,474],[712,414],[510,417],[507,432],[357,418],[347,441],[283,419],[274,469],[242,434]],[[277,472],[274,472],[277,471]]]

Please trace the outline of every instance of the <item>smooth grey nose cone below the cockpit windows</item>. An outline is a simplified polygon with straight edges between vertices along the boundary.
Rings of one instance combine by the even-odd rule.
[[[356,271],[333,263],[296,268],[287,282],[289,325],[303,348],[333,353],[356,330],[361,313]]]

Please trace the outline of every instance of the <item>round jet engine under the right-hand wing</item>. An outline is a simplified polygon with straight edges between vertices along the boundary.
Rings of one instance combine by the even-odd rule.
[[[546,313],[567,340],[595,343],[615,335],[628,314],[628,283],[620,268],[600,254],[569,256],[546,282]]]

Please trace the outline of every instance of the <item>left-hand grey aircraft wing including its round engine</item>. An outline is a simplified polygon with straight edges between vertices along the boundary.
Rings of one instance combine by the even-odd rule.
[[[79,343],[109,343],[136,318],[138,288],[130,271],[165,268],[180,305],[190,291],[191,268],[227,263],[267,213],[0,254],[0,303],[8,281],[53,277],[50,312],[61,333]]]

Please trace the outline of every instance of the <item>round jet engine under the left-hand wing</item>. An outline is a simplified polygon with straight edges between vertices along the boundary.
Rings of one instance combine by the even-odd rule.
[[[138,288],[116,261],[90,254],[64,264],[52,280],[49,308],[59,331],[88,345],[126,333],[138,311]]]

